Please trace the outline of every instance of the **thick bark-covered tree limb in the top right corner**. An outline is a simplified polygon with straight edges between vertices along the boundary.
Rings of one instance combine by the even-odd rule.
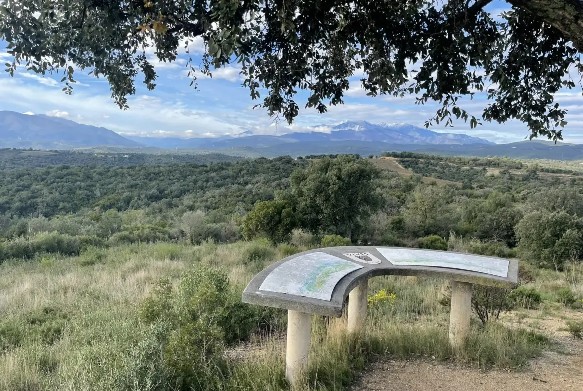
[[[561,31],[573,47],[583,52],[583,1],[581,0],[507,0]]]

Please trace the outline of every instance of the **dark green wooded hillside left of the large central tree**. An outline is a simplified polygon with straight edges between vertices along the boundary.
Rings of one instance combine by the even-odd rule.
[[[45,167],[0,171],[0,218],[53,216],[83,208],[189,209],[244,213],[273,198],[302,164],[289,157],[209,165]],[[1,226],[0,222],[0,226]]]

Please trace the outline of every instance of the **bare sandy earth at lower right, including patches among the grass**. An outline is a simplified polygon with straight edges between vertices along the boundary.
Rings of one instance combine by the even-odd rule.
[[[562,314],[543,315],[540,311],[505,313],[508,326],[526,327],[552,339],[553,350],[533,359],[528,368],[484,371],[455,361],[419,357],[394,360],[379,356],[357,373],[349,391],[583,391],[583,340],[565,329]],[[564,316],[563,316],[564,318]],[[568,312],[568,318],[583,320],[583,312]],[[276,338],[278,350],[285,352],[285,336]],[[260,348],[259,348],[260,349]],[[258,351],[257,344],[227,352],[245,359]],[[560,353],[557,353],[560,352]]]

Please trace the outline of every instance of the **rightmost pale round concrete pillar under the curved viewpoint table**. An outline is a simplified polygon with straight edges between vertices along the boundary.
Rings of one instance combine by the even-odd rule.
[[[449,343],[458,349],[468,337],[470,315],[472,313],[473,286],[469,283],[452,281],[451,313],[449,315]]]

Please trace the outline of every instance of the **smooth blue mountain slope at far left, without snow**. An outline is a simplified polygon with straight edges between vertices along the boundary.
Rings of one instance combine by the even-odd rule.
[[[70,119],[0,111],[0,148],[72,149],[94,146],[138,147],[115,132]]]

